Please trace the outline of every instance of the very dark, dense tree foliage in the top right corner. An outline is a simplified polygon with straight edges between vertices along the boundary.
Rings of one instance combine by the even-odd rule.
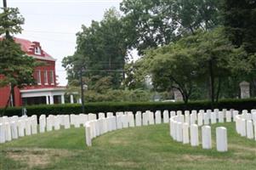
[[[225,33],[237,48],[256,53],[256,1],[225,0]]]

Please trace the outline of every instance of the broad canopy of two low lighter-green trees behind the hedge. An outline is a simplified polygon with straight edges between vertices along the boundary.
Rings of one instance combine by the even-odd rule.
[[[243,48],[232,46],[220,27],[197,31],[167,46],[149,50],[137,64],[140,65],[138,74],[150,76],[156,89],[176,88],[185,102],[191,95],[196,97],[195,89],[203,91],[200,87],[207,88],[208,83],[210,99],[214,102],[218,101],[226,79],[252,74],[254,59]]]

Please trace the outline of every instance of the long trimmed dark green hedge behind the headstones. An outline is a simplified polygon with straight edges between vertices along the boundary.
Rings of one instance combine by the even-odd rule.
[[[211,109],[209,101],[192,101],[185,105],[182,102],[111,102],[111,103],[86,103],[86,113],[116,112],[116,111],[191,111]],[[256,108],[256,99],[224,99],[213,105],[218,109],[236,109],[238,111],[251,110]],[[5,116],[21,116],[22,107],[9,108]],[[57,114],[79,114],[82,107],[79,104],[65,105],[32,105],[26,106],[27,115],[57,115]],[[0,109],[0,112],[2,110]]]

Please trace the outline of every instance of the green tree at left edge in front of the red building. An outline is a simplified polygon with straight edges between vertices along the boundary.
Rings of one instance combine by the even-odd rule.
[[[21,88],[34,82],[33,71],[35,60],[21,50],[20,45],[14,42],[14,34],[21,33],[24,18],[18,8],[4,8],[0,14],[0,87],[10,85],[12,99],[14,87]],[[7,33],[7,35],[6,35]],[[10,99],[10,98],[9,98]],[[15,102],[13,102],[15,105]],[[9,105],[9,101],[6,106]]]

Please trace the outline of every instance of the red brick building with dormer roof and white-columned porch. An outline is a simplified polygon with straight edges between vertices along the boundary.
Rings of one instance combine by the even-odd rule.
[[[36,86],[14,88],[15,105],[64,104],[65,87],[58,86],[56,82],[55,59],[43,50],[39,42],[30,42],[21,38],[14,38],[14,41],[20,44],[21,49],[27,55],[46,63],[46,65],[35,68]],[[3,76],[0,75],[0,78]],[[0,107],[7,104],[9,91],[9,87],[0,88]],[[70,101],[73,103],[72,95]]]

